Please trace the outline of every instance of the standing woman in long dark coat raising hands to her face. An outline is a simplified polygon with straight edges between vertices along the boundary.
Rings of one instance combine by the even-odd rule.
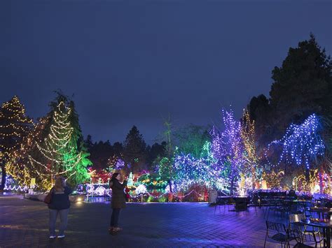
[[[125,187],[127,186],[127,177],[120,183],[120,174],[113,173],[109,187],[112,189],[112,216],[111,226],[109,227],[109,233],[116,234],[118,231],[122,231],[122,228],[118,227],[118,219],[121,208],[125,208]]]

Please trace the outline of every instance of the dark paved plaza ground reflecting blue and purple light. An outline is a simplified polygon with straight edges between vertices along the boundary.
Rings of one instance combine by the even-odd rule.
[[[130,203],[109,235],[109,203],[72,203],[64,240],[48,239],[45,203],[0,195],[0,247],[263,247],[263,212],[219,213],[207,203]],[[268,242],[268,247],[279,247]]]

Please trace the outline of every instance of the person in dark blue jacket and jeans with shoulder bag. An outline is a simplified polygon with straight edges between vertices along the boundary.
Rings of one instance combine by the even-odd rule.
[[[67,228],[68,212],[70,207],[69,194],[71,189],[67,187],[64,177],[57,177],[54,187],[50,190],[52,198],[48,204],[50,219],[49,230],[50,238],[55,238],[55,223],[57,215],[60,215],[60,228],[57,238],[64,238],[64,231]]]

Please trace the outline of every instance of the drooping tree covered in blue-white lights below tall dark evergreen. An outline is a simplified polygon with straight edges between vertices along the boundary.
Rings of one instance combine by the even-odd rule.
[[[298,166],[304,164],[310,169],[310,161],[318,155],[324,155],[325,145],[319,131],[321,126],[317,115],[312,114],[300,125],[291,124],[281,140],[275,140],[268,145],[265,157],[268,159],[268,151],[273,145],[281,145],[282,153],[277,165],[282,161],[295,162]]]

